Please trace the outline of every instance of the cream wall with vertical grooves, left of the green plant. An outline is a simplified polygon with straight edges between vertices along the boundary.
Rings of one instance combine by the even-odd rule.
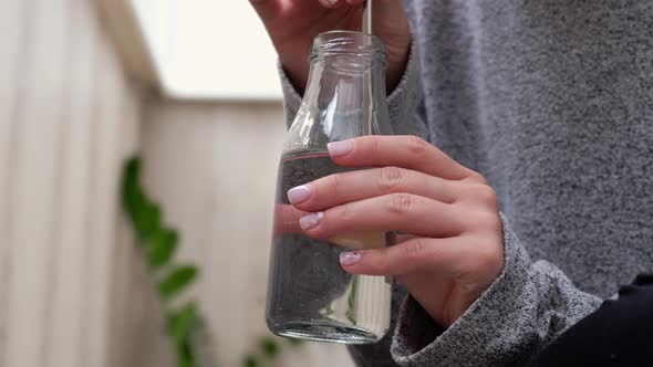
[[[112,279],[138,269],[118,179],[139,96],[93,1],[7,0],[0,24],[0,366],[110,366]]]

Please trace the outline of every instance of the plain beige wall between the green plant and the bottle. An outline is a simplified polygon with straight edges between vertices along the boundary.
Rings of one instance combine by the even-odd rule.
[[[197,262],[200,298],[224,366],[266,335],[263,305],[277,164],[279,104],[154,102],[142,144],[146,187]],[[278,366],[348,367],[343,346],[309,344]],[[144,365],[146,366],[146,365]]]

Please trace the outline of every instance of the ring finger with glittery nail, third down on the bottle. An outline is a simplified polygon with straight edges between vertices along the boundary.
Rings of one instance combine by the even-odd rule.
[[[469,220],[457,207],[410,193],[391,193],[348,202],[302,217],[304,233],[315,239],[367,231],[405,231],[434,238],[464,232]]]

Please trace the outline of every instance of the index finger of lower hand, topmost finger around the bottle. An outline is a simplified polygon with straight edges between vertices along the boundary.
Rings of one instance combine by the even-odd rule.
[[[397,166],[449,180],[480,178],[480,175],[412,135],[364,136],[331,143],[328,148],[333,161],[342,166]]]

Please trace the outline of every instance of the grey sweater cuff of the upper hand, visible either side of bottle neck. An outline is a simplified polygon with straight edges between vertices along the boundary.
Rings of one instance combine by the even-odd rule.
[[[417,50],[414,44],[408,53],[406,70],[400,84],[387,96],[387,109],[390,122],[395,135],[415,135],[427,139],[426,124],[423,114],[417,113],[423,106],[423,92],[419,81],[419,63],[417,62]],[[281,86],[283,91],[283,111],[286,124],[289,127],[301,106],[301,96],[290,83],[283,67],[279,67]]]

